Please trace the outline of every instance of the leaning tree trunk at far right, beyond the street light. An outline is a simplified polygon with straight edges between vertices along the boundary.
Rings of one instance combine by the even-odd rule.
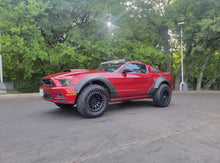
[[[211,51],[208,53],[208,55],[206,56],[206,58],[205,58],[204,64],[203,64],[203,66],[202,66],[202,69],[201,69],[200,72],[199,72],[199,78],[197,79],[197,84],[196,84],[196,90],[197,90],[197,91],[200,91],[200,89],[201,89],[204,71],[205,71],[206,66],[207,66],[207,64],[208,64],[209,58],[212,56],[212,54],[213,54],[214,52],[215,52],[215,50],[211,50]]]

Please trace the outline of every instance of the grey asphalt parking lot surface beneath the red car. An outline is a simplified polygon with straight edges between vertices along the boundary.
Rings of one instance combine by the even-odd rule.
[[[0,95],[0,163],[219,163],[220,92],[111,103],[100,118],[38,94]]]

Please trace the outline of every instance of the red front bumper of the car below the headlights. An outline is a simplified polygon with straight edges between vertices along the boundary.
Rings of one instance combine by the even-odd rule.
[[[41,97],[50,102],[62,104],[75,104],[76,93],[70,87],[40,87]]]

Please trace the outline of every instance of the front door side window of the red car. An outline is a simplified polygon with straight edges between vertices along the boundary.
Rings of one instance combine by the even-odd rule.
[[[131,73],[147,73],[147,66],[140,63],[128,63],[123,69],[130,69]]]

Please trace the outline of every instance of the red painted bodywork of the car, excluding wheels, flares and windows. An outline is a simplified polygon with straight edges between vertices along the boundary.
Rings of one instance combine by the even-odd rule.
[[[138,63],[145,65],[147,73],[122,73],[123,67],[129,63]],[[173,89],[173,77],[170,73],[163,73],[158,70],[157,73],[151,72],[151,66],[142,62],[128,61],[122,65],[118,70],[114,72],[105,71],[89,71],[84,69],[71,69],[67,72],[52,74],[44,77],[53,82],[54,86],[42,86],[40,89],[44,90],[43,99],[62,104],[75,104],[77,94],[74,93],[74,89],[78,83],[82,82],[88,77],[101,77],[106,79],[111,85],[113,85],[119,97],[111,98],[111,102],[133,100],[142,98],[152,98],[149,95],[150,89],[154,86],[155,81],[159,77],[166,78],[171,90]],[[72,86],[62,86],[59,80],[70,80]],[[79,92],[80,93],[80,92]]]

